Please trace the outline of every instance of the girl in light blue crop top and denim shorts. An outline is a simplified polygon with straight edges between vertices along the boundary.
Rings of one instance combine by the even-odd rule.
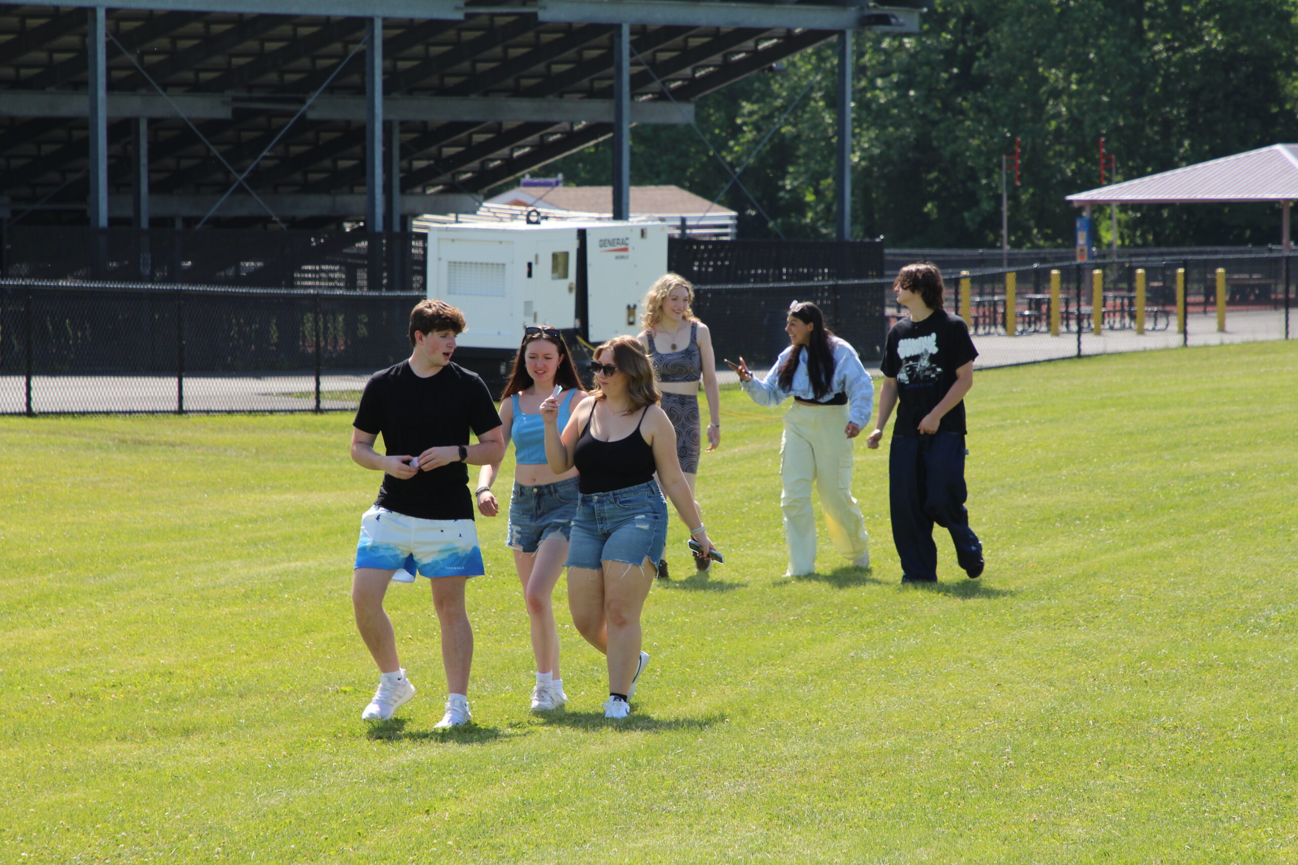
[[[545,459],[545,427],[540,405],[554,393],[561,398],[559,423],[566,424],[587,398],[563,336],[549,327],[530,327],[514,355],[514,368],[501,393],[500,419],[505,446],[514,440],[514,489],[509,498],[505,546],[514,551],[514,567],[523,584],[527,616],[536,655],[532,711],[548,712],[567,702],[559,678],[559,634],[554,625],[554,584],[567,562],[569,529],[576,516],[576,469],[556,475]],[[483,516],[500,514],[491,485],[500,463],[483,466],[474,498]]]

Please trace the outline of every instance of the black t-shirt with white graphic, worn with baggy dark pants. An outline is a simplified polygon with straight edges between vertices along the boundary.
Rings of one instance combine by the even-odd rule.
[[[933,310],[923,322],[903,318],[888,331],[880,371],[897,379],[894,436],[918,436],[919,421],[955,384],[955,371],[977,357],[964,319]],[[964,434],[964,401],[942,415],[938,432]]]

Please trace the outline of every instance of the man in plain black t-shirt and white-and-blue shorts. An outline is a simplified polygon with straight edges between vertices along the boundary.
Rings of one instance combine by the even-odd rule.
[[[441,663],[450,696],[437,728],[467,724],[474,632],[465,582],[482,575],[467,464],[498,463],[505,436],[485,383],[450,362],[465,316],[441,301],[410,313],[410,358],[375,372],[361,394],[352,429],[352,459],[383,472],[374,506],[361,517],[352,573],[356,628],[379,665],[379,690],[365,720],[387,720],[414,696],[397,659],[383,595],[393,575],[419,573],[432,585],[441,626]],[[469,444],[469,432],[478,436]],[[384,454],[374,450],[383,434]]]

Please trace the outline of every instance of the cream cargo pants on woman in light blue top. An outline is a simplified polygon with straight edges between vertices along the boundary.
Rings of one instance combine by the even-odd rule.
[[[784,541],[789,546],[789,576],[815,572],[813,481],[835,550],[849,562],[866,552],[866,520],[851,497],[851,445],[855,440],[844,433],[846,425],[848,406],[813,407],[794,402],[784,415],[780,508]]]

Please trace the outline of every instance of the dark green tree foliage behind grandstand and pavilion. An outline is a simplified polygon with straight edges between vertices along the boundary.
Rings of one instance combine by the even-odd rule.
[[[1098,139],[1118,179],[1298,141],[1295,0],[937,0],[911,36],[855,41],[853,227],[892,246],[996,246],[999,157],[1023,141],[1011,245],[1071,245],[1064,196],[1099,185]],[[720,204],[746,237],[832,237],[836,51],[803,52],[698,101],[700,132],[640,126],[632,183],[713,198],[731,166],[798,100]],[[803,95],[805,92],[805,95]],[[557,163],[606,184],[607,143]],[[1011,182],[1012,183],[1012,182]],[[759,206],[754,205],[755,200]],[[771,223],[762,215],[765,210]],[[1105,223],[1098,220],[1102,231]],[[772,224],[774,223],[774,224]],[[1136,244],[1266,244],[1275,205],[1124,207]]]

